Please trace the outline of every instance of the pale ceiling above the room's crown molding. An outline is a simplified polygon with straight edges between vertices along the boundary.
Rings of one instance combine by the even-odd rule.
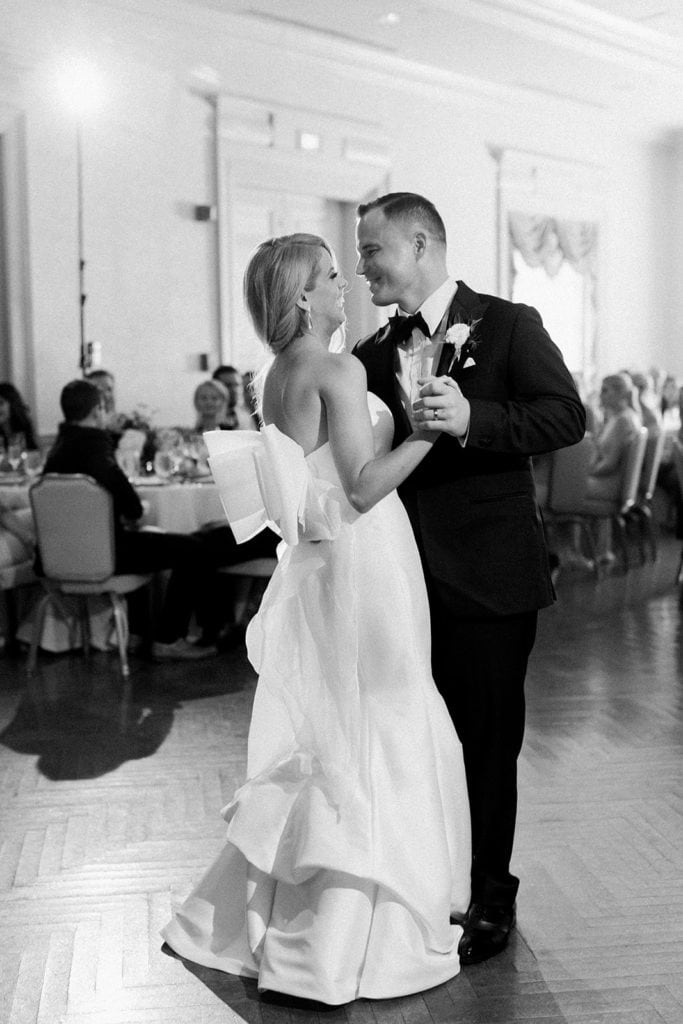
[[[683,128],[683,0],[190,0],[261,24]]]

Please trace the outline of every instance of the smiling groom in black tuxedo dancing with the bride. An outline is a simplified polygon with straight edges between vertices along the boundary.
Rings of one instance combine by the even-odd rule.
[[[413,193],[358,207],[356,273],[397,315],[354,354],[391,410],[394,445],[439,437],[399,488],[422,555],[434,679],[463,744],[472,897],[463,964],[505,948],[524,676],[538,609],[552,603],[529,457],[574,444],[585,414],[558,348],[529,306],[477,295],[446,268],[443,221]]]

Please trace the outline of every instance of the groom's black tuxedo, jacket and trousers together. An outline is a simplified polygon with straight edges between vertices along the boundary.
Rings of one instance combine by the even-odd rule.
[[[524,677],[538,609],[553,600],[530,457],[581,440],[585,413],[535,309],[458,282],[447,323],[474,325],[459,358],[444,344],[437,368],[469,399],[466,444],[439,437],[399,494],[425,569],[434,680],[463,743],[472,900],[509,910]],[[353,351],[393,413],[395,446],[411,428],[391,334],[382,328]]]

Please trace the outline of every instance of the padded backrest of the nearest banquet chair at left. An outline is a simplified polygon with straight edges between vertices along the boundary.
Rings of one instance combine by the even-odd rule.
[[[46,473],[29,492],[48,580],[102,583],[116,563],[114,502],[90,476]]]

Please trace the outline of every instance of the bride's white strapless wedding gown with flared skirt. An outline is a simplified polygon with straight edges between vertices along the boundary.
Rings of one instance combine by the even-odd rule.
[[[391,414],[370,408],[387,451]],[[329,444],[304,459],[271,426],[249,443],[267,450],[265,515],[298,543],[281,546],[247,634],[259,681],[226,846],[163,935],[260,989],[328,1004],[421,991],[459,970],[450,914],[469,902],[470,822],[413,532],[395,493],[351,508]]]

